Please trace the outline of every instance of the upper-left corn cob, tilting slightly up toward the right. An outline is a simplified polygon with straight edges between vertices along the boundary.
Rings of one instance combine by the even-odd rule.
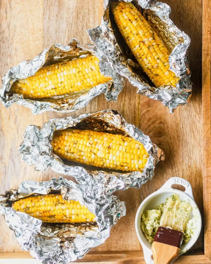
[[[64,95],[92,88],[110,80],[100,73],[96,56],[42,67],[33,76],[16,81],[13,93],[21,93],[24,98],[45,98]]]

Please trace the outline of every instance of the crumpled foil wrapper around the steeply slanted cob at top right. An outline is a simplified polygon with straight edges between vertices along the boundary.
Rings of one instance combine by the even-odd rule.
[[[148,84],[148,81],[151,82],[150,79],[141,70],[141,67],[131,59],[135,59],[135,57],[132,56],[128,46],[126,48],[126,45],[123,44],[123,37],[112,18],[111,10],[109,10],[111,1],[104,0],[105,10],[101,25],[88,30],[90,39],[97,49],[106,56],[109,66],[126,77],[133,86],[136,86],[138,88],[137,93],[160,101],[163,105],[169,107],[171,113],[177,106],[187,104],[192,92],[191,74],[186,58],[190,38],[170,20],[170,7],[155,0],[133,1],[136,7],[143,11],[143,15],[152,29],[163,40],[170,53],[170,70],[180,78],[176,87],[156,88]],[[120,1],[132,2],[132,0]],[[151,84],[153,83],[151,82]]]

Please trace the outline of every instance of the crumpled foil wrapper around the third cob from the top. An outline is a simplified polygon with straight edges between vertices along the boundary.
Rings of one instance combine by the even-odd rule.
[[[64,164],[53,153],[51,142],[55,130],[63,130],[70,127],[120,133],[138,140],[150,155],[143,172],[123,173],[115,170],[113,172],[109,169],[70,161],[64,161]],[[24,141],[20,145],[19,151],[22,159],[26,163],[34,165],[37,171],[43,171],[50,167],[58,173],[75,177],[84,188],[89,188],[89,186],[98,182],[99,188],[103,188],[104,192],[108,194],[131,187],[140,188],[143,183],[151,180],[154,176],[155,164],[160,160],[164,160],[163,151],[153,144],[150,138],[143,134],[140,129],[127,123],[116,110],[104,110],[92,114],[51,119],[43,125],[43,128],[29,125],[24,133]],[[99,171],[99,169],[101,170]]]

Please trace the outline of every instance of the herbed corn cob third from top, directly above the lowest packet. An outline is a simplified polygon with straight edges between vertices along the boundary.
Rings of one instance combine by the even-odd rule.
[[[51,144],[60,158],[122,171],[143,171],[149,157],[137,140],[92,130],[55,131]]]

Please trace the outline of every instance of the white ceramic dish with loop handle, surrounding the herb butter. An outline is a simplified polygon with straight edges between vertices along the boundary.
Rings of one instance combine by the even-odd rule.
[[[177,189],[173,189],[171,186],[174,184],[179,184],[184,186],[185,191],[183,192]],[[136,213],[136,219],[135,219],[136,233],[143,248],[143,254],[146,264],[153,264],[154,262],[152,259],[152,251],[151,251],[152,245],[148,242],[141,229],[141,215],[143,211],[155,209],[157,205],[164,203],[166,198],[171,196],[172,194],[178,194],[180,200],[182,201],[189,201],[192,208],[194,208],[195,213],[198,214],[199,216],[197,222],[197,229],[194,232],[194,237],[191,238],[188,241],[188,243],[186,243],[181,247],[180,255],[186,252],[188,249],[190,249],[199,237],[202,228],[202,218],[199,208],[196,202],[194,201],[191,185],[188,181],[186,181],[183,178],[179,178],[179,177],[170,178],[166,183],[164,183],[164,185],[159,190],[153,192],[145,200],[143,200]],[[190,218],[192,217],[193,215],[190,215]]]

